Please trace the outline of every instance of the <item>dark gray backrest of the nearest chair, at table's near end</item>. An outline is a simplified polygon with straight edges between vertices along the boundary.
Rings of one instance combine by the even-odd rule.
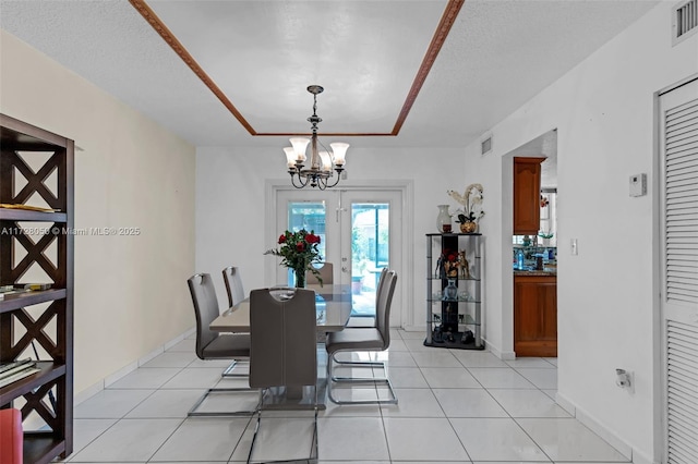
[[[250,387],[302,387],[317,381],[315,292],[250,292]],[[291,292],[287,292],[291,293]]]

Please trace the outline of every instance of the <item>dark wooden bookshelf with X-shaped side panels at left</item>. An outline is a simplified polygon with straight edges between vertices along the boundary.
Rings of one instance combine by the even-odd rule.
[[[74,145],[4,114],[0,136],[0,203],[55,210],[0,207],[0,285],[51,284],[0,300],[0,362],[40,369],[0,388],[0,407],[32,415],[24,462],[43,464],[73,451]]]

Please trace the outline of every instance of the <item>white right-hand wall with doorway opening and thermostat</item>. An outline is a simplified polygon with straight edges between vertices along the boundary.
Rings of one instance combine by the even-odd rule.
[[[512,341],[510,151],[557,127],[558,398],[635,462],[658,460],[659,327],[654,93],[698,72],[698,36],[671,47],[662,2],[492,129],[494,152],[467,147],[468,181],[489,188],[488,341]],[[508,155],[507,155],[508,154]],[[648,173],[649,194],[628,195]],[[472,178],[472,179],[470,179]],[[502,196],[500,195],[502,193]],[[500,205],[500,206],[497,206]],[[492,217],[494,216],[494,217]],[[579,241],[571,256],[570,239]],[[634,394],[614,383],[635,371]]]

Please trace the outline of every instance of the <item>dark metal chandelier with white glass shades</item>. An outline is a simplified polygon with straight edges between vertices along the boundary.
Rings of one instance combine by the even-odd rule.
[[[286,161],[288,164],[288,173],[291,175],[291,184],[296,188],[303,188],[306,185],[311,187],[318,187],[324,191],[327,187],[334,187],[339,183],[341,171],[345,170],[345,157],[349,144],[342,142],[335,142],[329,144],[332,150],[328,150],[317,139],[317,124],[322,122],[322,119],[317,115],[317,94],[321,94],[324,88],[320,85],[311,85],[308,87],[308,91],[313,94],[313,115],[308,118],[308,122],[311,123],[311,130],[313,135],[311,138],[290,138],[292,147],[284,148],[286,152]],[[310,167],[305,167],[305,149],[308,144],[311,147],[310,154]],[[318,150],[317,146],[321,146],[323,150]],[[337,179],[332,182],[332,178],[337,172]]]

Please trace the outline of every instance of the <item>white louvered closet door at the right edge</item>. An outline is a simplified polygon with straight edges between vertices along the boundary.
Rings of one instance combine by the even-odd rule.
[[[698,463],[698,80],[660,97],[665,462]]]

